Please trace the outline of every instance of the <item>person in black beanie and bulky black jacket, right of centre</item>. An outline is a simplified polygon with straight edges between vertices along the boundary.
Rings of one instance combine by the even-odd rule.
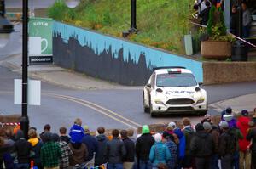
[[[195,129],[195,136],[190,143],[190,155],[195,157],[195,166],[197,169],[210,168],[214,146],[212,135],[204,130],[201,123],[198,123]]]

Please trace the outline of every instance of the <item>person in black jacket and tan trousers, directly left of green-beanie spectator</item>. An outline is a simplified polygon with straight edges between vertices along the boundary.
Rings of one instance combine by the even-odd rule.
[[[126,155],[123,158],[123,166],[124,169],[131,169],[134,164],[135,157],[135,144],[134,142],[128,138],[128,132],[126,130],[121,131],[121,138],[125,144]]]

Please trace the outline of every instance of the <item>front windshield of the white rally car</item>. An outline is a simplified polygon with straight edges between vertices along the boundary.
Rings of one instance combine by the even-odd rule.
[[[190,73],[160,74],[156,77],[157,87],[195,87],[197,82]]]

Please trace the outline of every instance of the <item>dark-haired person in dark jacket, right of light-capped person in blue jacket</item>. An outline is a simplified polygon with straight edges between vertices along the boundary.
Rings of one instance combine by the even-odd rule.
[[[100,166],[108,162],[108,159],[107,159],[108,138],[105,136],[104,127],[98,127],[97,132],[99,135],[96,136],[98,149],[96,152],[95,166]]]

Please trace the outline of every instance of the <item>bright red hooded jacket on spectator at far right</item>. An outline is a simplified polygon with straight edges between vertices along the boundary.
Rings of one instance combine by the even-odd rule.
[[[241,116],[238,118],[238,121],[236,123],[237,127],[240,129],[241,134],[243,136],[243,139],[238,140],[239,143],[239,148],[241,151],[246,151],[247,150],[247,146],[250,144],[249,141],[247,141],[247,132],[249,129],[249,121],[250,118],[247,116]]]

